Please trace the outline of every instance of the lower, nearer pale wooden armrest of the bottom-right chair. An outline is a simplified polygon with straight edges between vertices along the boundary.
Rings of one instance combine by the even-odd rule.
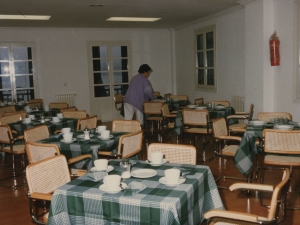
[[[242,221],[248,221],[248,222],[257,222],[258,221],[258,216],[254,215],[254,214],[227,211],[227,210],[218,210],[218,209],[208,211],[207,213],[204,214],[204,217],[206,219],[209,219],[212,217],[222,217],[222,218],[242,220]]]

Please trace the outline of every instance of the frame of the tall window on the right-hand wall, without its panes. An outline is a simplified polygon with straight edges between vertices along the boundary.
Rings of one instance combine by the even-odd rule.
[[[203,39],[203,50],[198,50],[197,49],[197,36],[198,35],[205,35],[209,32],[213,32],[213,48],[206,48],[206,38]],[[207,53],[208,51],[213,51],[213,60],[214,60],[214,65],[212,67],[207,66]],[[203,67],[198,67],[197,63],[197,53],[198,52],[203,52],[203,60],[204,60],[204,65]],[[210,25],[207,27],[199,28],[194,31],[194,68],[195,68],[195,89],[196,90],[201,90],[201,91],[207,91],[207,92],[216,92],[217,91],[217,57],[216,57],[216,52],[217,52],[217,46],[216,46],[216,25]],[[198,69],[203,69],[204,71],[207,71],[207,69],[213,69],[214,71],[214,84],[213,85],[208,85],[207,84],[207,72],[204,72],[204,84],[198,84]]]

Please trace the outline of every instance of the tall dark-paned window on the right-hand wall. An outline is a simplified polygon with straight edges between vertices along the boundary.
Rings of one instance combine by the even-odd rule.
[[[216,91],[215,25],[195,31],[196,89]]]

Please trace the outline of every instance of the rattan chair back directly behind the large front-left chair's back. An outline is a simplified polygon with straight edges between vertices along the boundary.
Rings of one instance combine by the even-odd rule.
[[[25,147],[29,164],[60,155],[59,148],[55,144],[26,141]]]

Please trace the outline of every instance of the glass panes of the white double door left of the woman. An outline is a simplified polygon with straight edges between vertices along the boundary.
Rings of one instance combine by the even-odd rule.
[[[94,97],[125,95],[129,83],[129,45],[91,45]]]

